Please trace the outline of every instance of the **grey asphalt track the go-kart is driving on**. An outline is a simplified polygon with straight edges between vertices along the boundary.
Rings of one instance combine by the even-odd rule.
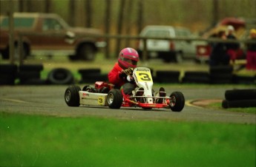
[[[193,101],[202,99],[222,100],[227,88],[211,86],[205,88],[165,87],[168,95],[174,91],[183,92],[186,106],[182,112],[171,109],[151,109],[122,107],[108,109],[99,106],[67,106],[64,100],[68,86],[0,86],[0,111],[18,112],[29,115],[53,115],[56,117],[111,117],[119,119],[198,121],[218,123],[256,123],[255,114],[228,112],[225,109],[209,109],[194,106]],[[248,88],[248,87],[247,87]],[[230,88],[229,88],[230,89]]]

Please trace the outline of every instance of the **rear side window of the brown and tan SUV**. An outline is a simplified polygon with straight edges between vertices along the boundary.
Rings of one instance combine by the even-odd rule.
[[[14,18],[14,27],[32,27],[34,21],[34,18]],[[9,27],[9,18],[3,18],[0,27]]]

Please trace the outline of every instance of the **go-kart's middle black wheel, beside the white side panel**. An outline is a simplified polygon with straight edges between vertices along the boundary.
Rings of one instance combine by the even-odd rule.
[[[111,109],[120,109],[122,106],[122,92],[120,89],[111,89],[107,96],[108,107]]]

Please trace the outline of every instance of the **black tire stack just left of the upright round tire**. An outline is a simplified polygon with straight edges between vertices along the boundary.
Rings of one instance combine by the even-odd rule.
[[[22,85],[41,85],[46,81],[41,79],[42,64],[22,64],[19,66],[19,83]]]

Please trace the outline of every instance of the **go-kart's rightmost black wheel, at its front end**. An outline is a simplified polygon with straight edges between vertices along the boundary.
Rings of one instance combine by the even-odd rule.
[[[170,108],[173,112],[181,112],[185,106],[185,98],[182,92],[172,92],[170,95]]]

